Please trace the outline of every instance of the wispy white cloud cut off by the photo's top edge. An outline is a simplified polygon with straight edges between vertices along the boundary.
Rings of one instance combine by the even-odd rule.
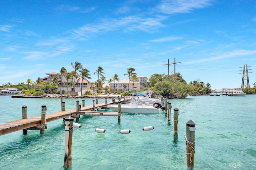
[[[164,0],[157,9],[164,14],[188,13],[210,5],[211,0]]]

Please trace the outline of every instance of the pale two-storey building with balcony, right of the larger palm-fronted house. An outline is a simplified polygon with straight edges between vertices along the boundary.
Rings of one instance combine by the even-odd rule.
[[[130,87],[129,86],[130,82]],[[130,80],[128,79],[122,79],[119,81],[112,81],[109,84],[109,88],[111,92],[116,91],[139,91],[142,88],[145,88],[148,82],[147,76],[137,76],[137,79],[132,82],[132,78],[130,77]],[[126,87],[126,88],[124,88]]]

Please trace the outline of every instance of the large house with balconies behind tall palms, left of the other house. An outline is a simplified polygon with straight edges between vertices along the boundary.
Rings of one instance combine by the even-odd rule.
[[[42,80],[51,83],[54,82],[54,76],[57,76],[57,86],[58,90],[62,87],[62,90],[65,90],[66,92],[75,91],[80,92],[81,94],[81,88],[82,88],[82,94],[85,94],[86,90],[92,90],[93,87],[95,87],[95,84],[92,82],[88,82],[87,80],[82,80],[81,78],[74,78],[74,76],[70,79],[66,79],[64,75],[60,77],[60,74],[57,72],[50,72],[46,73],[46,77],[42,78]],[[93,90],[92,90],[93,92]]]

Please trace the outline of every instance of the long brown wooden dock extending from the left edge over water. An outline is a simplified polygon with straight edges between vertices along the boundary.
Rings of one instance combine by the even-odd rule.
[[[118,102],[118,101],[117,101]],[[110,104],[115,103],[115,101],[110,102]],[[102,104],[96,104],[95,107],[104,107],[106,106],[106,103]],[[74,118],[79,118],[79,115],[96,115],[96,114],[90,114],[94,106],[85,106],[81,107],[79,111],[76,109],[71,109],[67,111],[60,111],[56,113],[51,113],[51,114],[46,114],[45,115],[45,121],[44,122],[50,122],[50,121],[55,121],[58,119],[63,119],[68,116],[74,116]],[[86,111],[88,111],[86,114]],[[80,114],[79,114],[80,112]],[[108,113],[114,113],[114,112],[108,112]],[[115,112],[117,113],[117,112]],[[103,113],[100,113],[100,115],[104,115]],[[110,114],[111,115],[111,114]],[[112,114],[116,115],[116,114]],[[0,123],[0,135],[5,135],[8,133],[12,133],[15,131],[19,130],[24,130],[24,129],[40,129],[40,126],[42,128],[42,116],[35,116],[35,117],[30,117],[26,119],[20,119],[20,120],[15,120],[15,121],[10,121],[6,123]]]

